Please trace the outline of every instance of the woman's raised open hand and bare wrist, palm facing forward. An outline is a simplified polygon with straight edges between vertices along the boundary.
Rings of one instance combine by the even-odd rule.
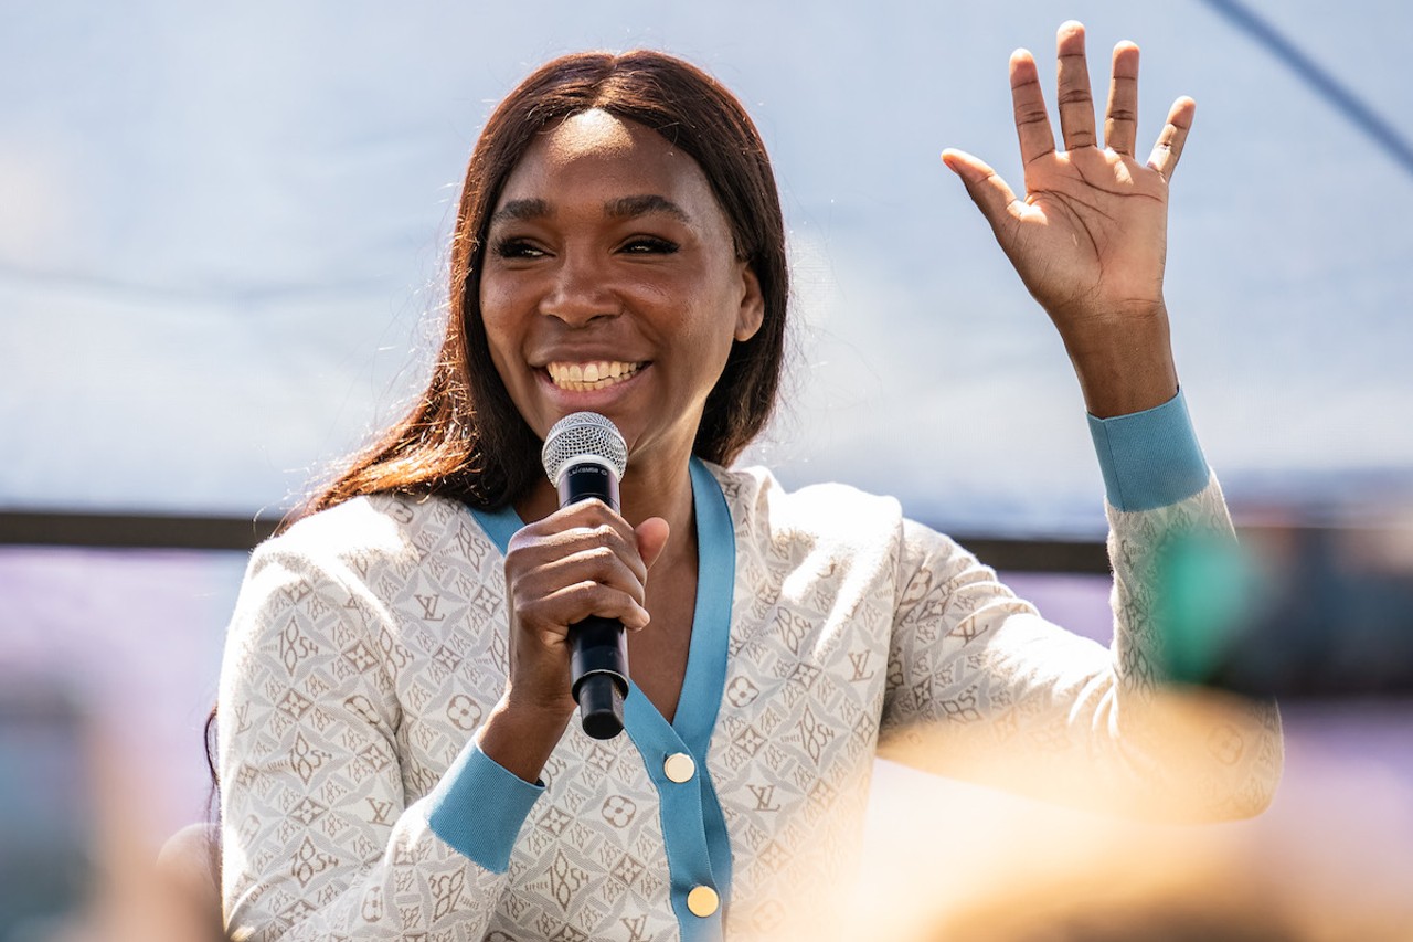
[[[942,160],[1054,321],[1089,412],[1137,412],[1177,392],[1163,303],[1167,198],[1197,105],[1177,99],[1147,163],[1139,163],[1139,48],[1121,42],[1113,50],[1102,149],[1081,24],[1060,27],[1057,54],[1063,151],[1034,58],[1024,50],[1010,57],[1024,199],[968,153],[947,150]]]

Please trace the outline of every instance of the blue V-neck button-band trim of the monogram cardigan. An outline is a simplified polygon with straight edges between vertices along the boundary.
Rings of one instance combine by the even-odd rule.
[[[697,941],[722,938],[722,915],[731,901],[731,839],[706,768],[706,751],[726,686],[736,539],[721,484],[697,458],[691,461],[691,479],[697,515],[697,605],[677,713],[668,723],[630,682],[623,702],[623,730],[657,788],[673,911],[682,939]],[[492,512],[472,509],[472,513],[502,553],[524,526],[509,505]],[[687,782],[673,782],[664,769],[667,757],[678,752],[690,754],[695,764],[697,774]],[[687,908],[687,894],[699,885],[715,888],[722,900],[709,917],[692,915]]]

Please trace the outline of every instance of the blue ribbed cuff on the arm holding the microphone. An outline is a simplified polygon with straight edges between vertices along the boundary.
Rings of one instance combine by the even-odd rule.
[[[504,873],[520,827],[543,793],[544,785],[506,771],[472,741],[427,796],[427,823],[458,853]]]

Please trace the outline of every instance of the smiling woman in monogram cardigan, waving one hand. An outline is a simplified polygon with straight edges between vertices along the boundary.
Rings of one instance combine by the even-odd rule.
[[[1065,339],[1095,417],[1115,652],[1044,622],[896,502],[729,470],[764,426],[787,274],[740,105],[653,52],[555,59],[472,154],[451,311],[421,403],[261,546],[220,689],[237,938],[718,938],[828,926],[883,741],[933,730],[1087,788],[1177,788],[1156,748],[1146,571],[1225,532],[1186,420],[1161,272],[1193,103],[1132,157],[1137,50],[1095,146],[1084,34],[1060,34],[1064,154],[1012,59],[1027,202],[944,160]],[[629,447],[622,513],[538,465],[593,410]],[[567,625],[630,631],[626,733],[571,724]],[[1273,710],[1191,731],[1208,813],[1279,775]],[[1044,748],[1037,748],[1037,744]],[[966,771],[966,769],[964,769]],[[969,771],[978,772],[975,768]]]

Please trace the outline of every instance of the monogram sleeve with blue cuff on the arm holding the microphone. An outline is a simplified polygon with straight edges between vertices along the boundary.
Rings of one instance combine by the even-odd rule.
[[[391,618],[338,562],[256,552],[219,700],[232,938],[401,939],[452,925],[483,934],[538,789],[507,784],[468,745],[430,796],[408,801],[386,665]],[[479,825],[459,810],[472,803]]]

